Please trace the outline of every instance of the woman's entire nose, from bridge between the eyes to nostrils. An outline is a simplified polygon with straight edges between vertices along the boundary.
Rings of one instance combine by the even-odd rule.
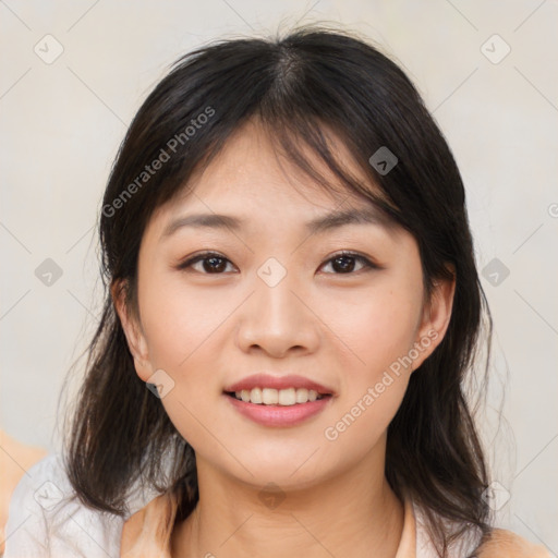
[[[241,318],[242,348],[258,345],[276,356],[291,348],[315,350],[316,319],[302,302],[305,296],[300,278],[286,268],[281,270],[276,262],[264,264],[257,276],[254,294]]]

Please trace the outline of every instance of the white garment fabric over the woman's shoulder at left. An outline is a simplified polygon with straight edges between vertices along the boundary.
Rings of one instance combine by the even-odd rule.
[[[5,525],[4,558],[119,556],[123,519],[77,499],[59,454],[49,454],[15,487]]]

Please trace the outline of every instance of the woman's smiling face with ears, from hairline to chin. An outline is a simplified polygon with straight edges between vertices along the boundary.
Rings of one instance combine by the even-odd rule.
[[[281,167],[254,124],[192,186],[145,231],[138,320],[119,313],[137,374],[159,386],[198,466],[289,487],[381,464],[451,286],[426,304],[414,239],[369,202]]]

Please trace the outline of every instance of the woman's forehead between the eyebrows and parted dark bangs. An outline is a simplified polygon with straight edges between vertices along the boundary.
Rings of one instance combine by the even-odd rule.
[[[379,187],[353,160],[348,147],[330,134],[339,166],[376,195]],[[204,213],[257,211],[277,219],[305,219],[326,210],[362,210],[376,213],[377,220],[389,219],[368,198],[342,184],[340,179],[307,146],[301,145],[301,157],[320,180],[292,161],[274,141],[268,130],[251,121],[236,131],[221,151],[195,172],[172,203],[161,208],[173,218],[187,208]],[[196,211],[199,213],[199,211]],[[390,225],[395,225],[391,222]]]

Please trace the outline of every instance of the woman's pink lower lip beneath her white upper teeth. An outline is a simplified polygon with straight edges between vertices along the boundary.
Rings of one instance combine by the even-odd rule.
[[[294,405],[264,405],[246,403],[226,393],[223,397],[230,400],[239,413],[263,426],[295,426],[323,411],[332,399],[331,396],[327,396],[316,401]]]

